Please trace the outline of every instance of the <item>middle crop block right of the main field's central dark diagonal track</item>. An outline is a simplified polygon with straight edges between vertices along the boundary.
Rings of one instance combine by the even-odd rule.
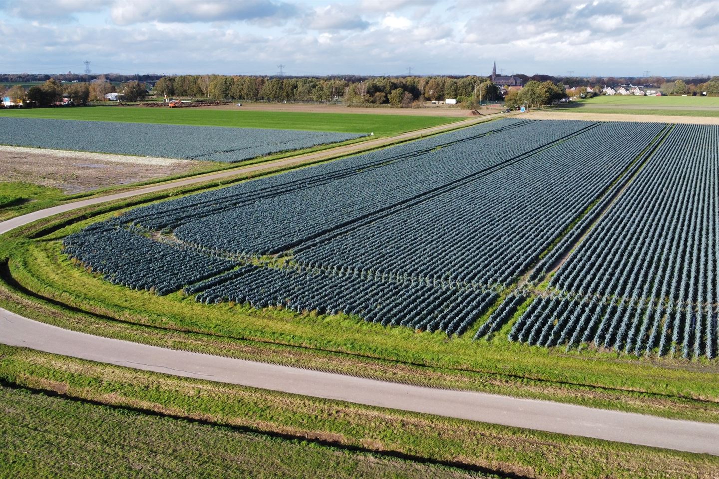
[[[442,195],[296,250],[298,264],[508,286],[661,129],[600,124]],[[508,186],[509,185],[509,186]]]

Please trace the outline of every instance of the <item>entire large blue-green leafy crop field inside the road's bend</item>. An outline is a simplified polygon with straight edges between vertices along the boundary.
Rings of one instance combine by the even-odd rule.
[[[672,128],[507,118],[136,208],[65,252],[206,303],[711,358],[719,132]]]

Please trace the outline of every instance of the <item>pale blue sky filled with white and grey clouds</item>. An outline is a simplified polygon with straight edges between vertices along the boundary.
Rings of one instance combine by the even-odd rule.
[[[719,75],[719,1],[0,0],[0,73]]]

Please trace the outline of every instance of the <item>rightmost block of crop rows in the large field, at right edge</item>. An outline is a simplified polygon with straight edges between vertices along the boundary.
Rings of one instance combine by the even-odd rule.
[[[712,358],[718,239],[719,127],[676,126],[554,275],[559,297],[525,313],[521,324],[534,332],[516,325],[510,338],[551,345],[549,321],[557,343]]]

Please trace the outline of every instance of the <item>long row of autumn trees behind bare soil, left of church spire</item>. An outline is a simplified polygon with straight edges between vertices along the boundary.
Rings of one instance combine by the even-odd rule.
[[[317,101],[344,103],[390,103],[411,106],[417,101],[459,103],[475,99],[501,99],[489,78],[371,77],[371,78],[278,78],[260,76],[178,75],[160,78],[154,93],[159,96],[189,96],[246,101]]]

